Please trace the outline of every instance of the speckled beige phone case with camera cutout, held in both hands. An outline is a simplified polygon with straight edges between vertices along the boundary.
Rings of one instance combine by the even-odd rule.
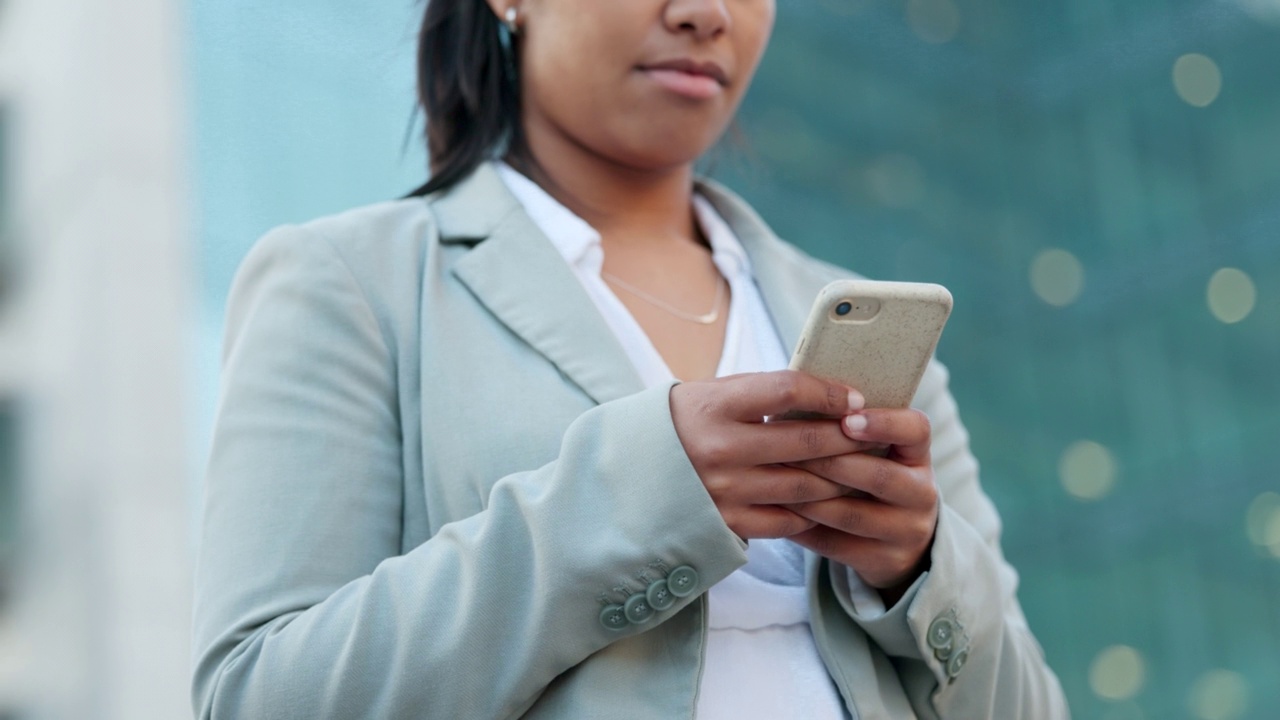
[[[867,407],[908,407],[950,314],[940,284],[836,281],[814,300],[791,369],[847,384]]]

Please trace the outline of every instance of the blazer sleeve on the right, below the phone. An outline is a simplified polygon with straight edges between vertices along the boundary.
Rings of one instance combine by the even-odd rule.
[[[1000,516],[978,483],[978,462],[942,365],[931,364],[915,406],[933,428],[943,501],[931,566],[877,616],[856,610],[842,573],[832,573],[836,596],[893,660],[919,717],[1066,719],[1062,689],[1018,603],[1018,574],[1000,548]]]

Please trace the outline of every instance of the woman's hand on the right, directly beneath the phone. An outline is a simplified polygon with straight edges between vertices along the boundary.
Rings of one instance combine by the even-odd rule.
[[[938,523],[929,419],[919,410],[864,410],[845,418],[841,427],[850,439],[887,446],[887,455],[855,452],[792,462],[838,483],[845,493],[787,505],[814,523],[791,539],[852,568],[891,606],[927,569]]]

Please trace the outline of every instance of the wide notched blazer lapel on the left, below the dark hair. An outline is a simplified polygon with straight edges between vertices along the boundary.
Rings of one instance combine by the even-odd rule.
[[[595,402],[644,389],[582,284],[492,165],[433,202],[443,243],[476,243],[453,266],[493,315]]]

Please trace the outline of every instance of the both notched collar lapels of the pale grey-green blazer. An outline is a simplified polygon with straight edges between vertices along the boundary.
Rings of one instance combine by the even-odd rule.
[[[818,290],[838,272],[783,243],[745,201],[718,183],[700,179],[698,191],[737,234],[774,325],[785,346],[794,347]],[[453,274],[498,320],[596,402],[644,389],[572,269],[492,164],[428,202],[442,243],[474,245]]]

